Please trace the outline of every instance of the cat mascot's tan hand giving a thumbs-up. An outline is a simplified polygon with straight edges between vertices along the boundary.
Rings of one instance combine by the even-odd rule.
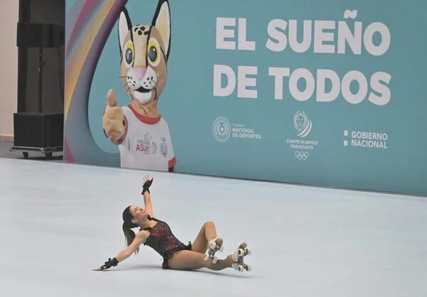
[[[102,128],[104,128],[107,139],[110,139],[113,144],[120,144],[125,139],[126,120],[122,107],[117,106],[117,96],[112,89],[107,93],[107,106],[102,116]]]

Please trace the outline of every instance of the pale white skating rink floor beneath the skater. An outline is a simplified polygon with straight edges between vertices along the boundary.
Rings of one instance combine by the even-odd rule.
[[[154,215],[182,242],[207,220],[251,272],[162,270],[125,247],[144,171],[0,158],[0,296],[427,296],[427,198],[149,173]]]

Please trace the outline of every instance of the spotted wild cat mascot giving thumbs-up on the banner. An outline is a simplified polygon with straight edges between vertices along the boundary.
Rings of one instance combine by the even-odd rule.
[[[122,9],[118,20],[120,79],[130,104],[117,105],[115,91],[107,92],[102,127],[120,150],[120,166],[173,171],[176,163],[167,122],[157,107],[167,82],[171,43],[169,2],[160,0],[151,25],[132,26]]]

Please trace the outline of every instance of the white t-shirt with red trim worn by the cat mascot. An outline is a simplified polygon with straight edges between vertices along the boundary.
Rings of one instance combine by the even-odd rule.
[[[127,120],[127,134],[119,144],[121,167],[168,171],[176,158],[169,126],[162,117],[147,118],[122,107]]]

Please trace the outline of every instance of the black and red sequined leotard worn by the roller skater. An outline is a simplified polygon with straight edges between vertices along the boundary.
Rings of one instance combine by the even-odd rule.
[[[168,269],[167,261],[172,258],[174,253],[182,251],[184,249],[191,250],[191,242],[185,245],[177,239],[172,230],[166,222],[151,218],[151,220],[157,221],[154,227],[142,228],[141,230],[149,231],[149,237],[145,240],[144,245],[152,247],[163,257],[163,269]]]

